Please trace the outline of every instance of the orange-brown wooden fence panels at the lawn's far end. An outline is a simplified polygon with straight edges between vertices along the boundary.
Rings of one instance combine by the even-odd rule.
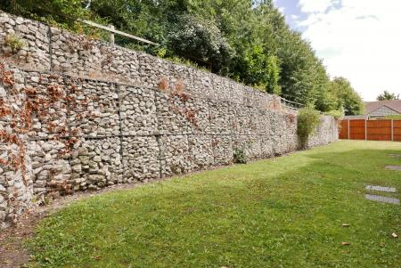
[[[340,139],[401,142],[401,120],[342,120]]]

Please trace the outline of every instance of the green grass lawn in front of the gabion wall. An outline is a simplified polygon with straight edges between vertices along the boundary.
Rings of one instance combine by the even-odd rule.
[[[342,141],[78,201],[37,227],[31,265],[401,267],[401,207],[364,199],[366,184],[401,198],[390,153]]]

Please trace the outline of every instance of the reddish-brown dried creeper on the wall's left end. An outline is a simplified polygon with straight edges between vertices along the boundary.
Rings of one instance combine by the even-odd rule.
[[[48,78],[58,79],[58,76],[49,76]],[[78,130],[70,131],[65,126],[66,124],[60,124],[56,122],[55,118],[62,117],[62,109],[69,107],[70,109],[83,110],[79,113],[81,118],[92,116],[92,113],[86,111],[87,101],[78,101],[71,96],[71,93],[75,93],[77,86],[74,85],[74,81],[70,81],[70,92],[63,86],[52,83],[48,85],[44,93],[39,93],[39,90],[34,87],[25,86],[22,91],[26,95],[26,99],[22,101],[20,108],[11,105],[12,97],[18,92],[14,88],[14,78],[12,71],[5,70],[5,64],[0,61],[0,84],[8,87],[9,96],[11,100],[4,100],[0,98],[0,119],[4,120],[11,127],[12,133],[7,131],[0,131],[0,143],[7,145],[7,148],[11,148],[13,144],[18,146],[17,153],[11,150],[7,151],[7,158],[1,158],[0,164],[8,166],[14,172],[21,171],[22,179],[26,184],[26,148],[25,143],[21,140],[24,134],[28,134],[32,131],[33,118],[38,118],[42,124],[46,125],[49,133],[53,134],[53,141],[63,142],[65,149],[59,152],[59,157],[64,157],[70,153],[70,150],[74,144],[79,142],[82,134]],[[39,79],[39,83],[42,83],[42,77]],[[18,96],[16,96],[18,98]],[[65,188],[65,187],[64,187]],[[64,192],[68,191],[68,188]]]

